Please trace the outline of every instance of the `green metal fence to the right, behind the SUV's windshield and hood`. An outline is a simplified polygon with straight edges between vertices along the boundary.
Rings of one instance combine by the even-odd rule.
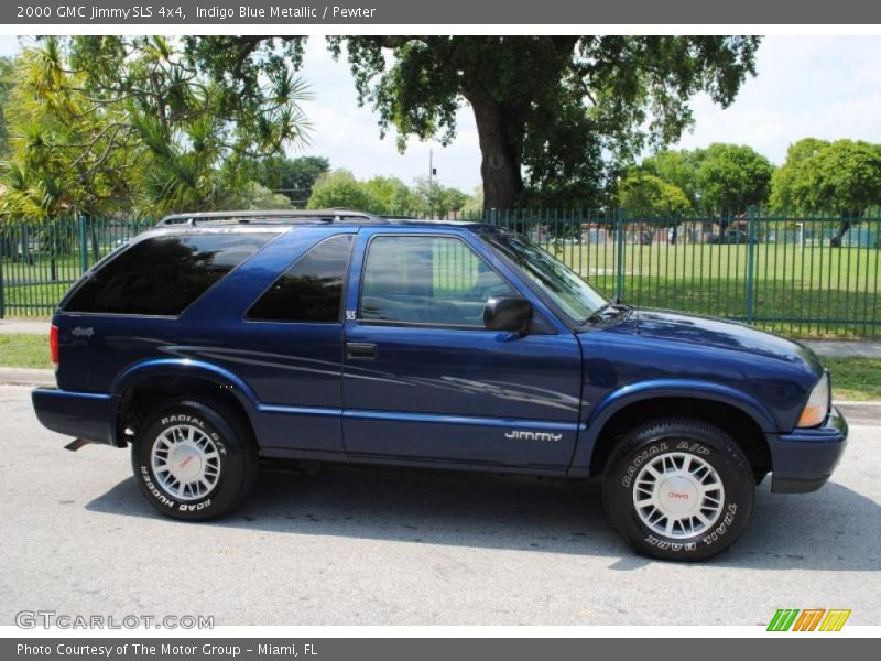
[[[499,213],[609,296],[794,336],[881,335],[881,217]]]

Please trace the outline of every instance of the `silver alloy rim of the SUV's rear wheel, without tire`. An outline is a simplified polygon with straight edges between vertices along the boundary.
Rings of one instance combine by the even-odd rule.
[[[150,453],[160,487],[177,500],[198,500],[220,477],[220,454],[211,437],[192,424],[168,427]]]

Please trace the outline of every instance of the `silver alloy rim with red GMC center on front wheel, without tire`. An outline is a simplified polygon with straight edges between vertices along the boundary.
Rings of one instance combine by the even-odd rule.
[[[633,483],[633,507],[653,532],[684,539],[716,523],[725,487],[716,469],[698,456],[673,452],[642,467]]]

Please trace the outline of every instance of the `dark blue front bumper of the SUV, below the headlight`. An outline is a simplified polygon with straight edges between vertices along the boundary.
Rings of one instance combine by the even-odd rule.
[[[772,491],[816,491],[829,479],[845,452],[847,422],[833,407],[823,426],[769,434],[768,445],[773,466]]]

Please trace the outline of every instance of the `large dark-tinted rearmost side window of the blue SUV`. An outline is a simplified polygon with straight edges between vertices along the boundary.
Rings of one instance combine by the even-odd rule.
[[[274,236],[215,232],[145,239],[93,273],[65,310],[176,316]]]

